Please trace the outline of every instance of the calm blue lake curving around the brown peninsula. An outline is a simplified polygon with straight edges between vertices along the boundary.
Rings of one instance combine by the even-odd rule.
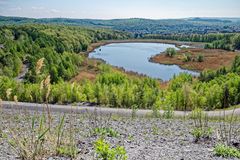
[[[164,52],[169,47],[177,49],[175,45],[162,43],[112,43],[95,49],[89,57],[163,81],[168,81],[182,72],[199,75],[198,72],[181,69],[177,65],[149,62],[151,56]]]

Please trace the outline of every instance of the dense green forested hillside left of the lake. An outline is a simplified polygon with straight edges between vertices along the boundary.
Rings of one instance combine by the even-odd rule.
[[[43,73],[51,82],[68,80],[78,73],[89,44],[106,39],[126,39],[129,35],[105,29],[55,25],[0,27],[0,75],[16,77],[23,65],[29,72],[25,80],[37,82],[36,62],[44,57]]]

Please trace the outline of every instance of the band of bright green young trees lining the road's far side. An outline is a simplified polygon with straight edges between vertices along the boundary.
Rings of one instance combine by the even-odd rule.
[[[218,73],[219,74],[219,73]],[[216,73],[214,73],[214,76]],[[150,78],[131,78],[122,73],[103,72],[95,81],[69,83],[59,81],[51,85],[49,103],[90,102],[109,107],[170,110],[221,109],[240,103],[240,76],[237,73],[219,74],[217,77],[194,80],[191,75],[180,74],[170,82],[167,90],[161,90]],[[227,86],[227,88],[226,88]],[[7,96],[7,90],[12,94]],[[0,97],[19,101],[45,101],[41,83],[19,83],[8,77],[0,77]],[[170,112],[171,113],[171,112]],[[157,116],[157,114],[156,114]]]

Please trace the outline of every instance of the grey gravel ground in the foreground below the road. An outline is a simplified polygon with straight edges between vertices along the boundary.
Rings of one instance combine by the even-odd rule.
[[[19,159],[14,149],[9,146],[5,138],[11,135],[9,129],[20,134],[28,134],[31,126],[32,111],[13,111],[0,109],[0,159]],[[41,113],[37,113],[40,115]],[[59,122],[61,113],[52,113],[52,125]],[[70,123],[72,122],[72,123]],[[76,159],[96,159],[93,143],[99,136],[93,135],[96,127],[110,127],[116,130],[120,136],[106,137],[106,141],[112,146],[122,145],[126,148],[130,160],[222,160],[213,153],[214,146],[218,143],[218,122],[210,122],[215,130],[212,138],[194,142],[191,130],[194,123],[191,120],[156,119],[156,118],[127,118],[116,116],[101,116],[96,114],[66,114],[65,133],[68,134],[69,125],[72,124],[76,131],[76,143],[79,154]],[[239,123],[234,125],[239,128]],[[19,134],[18,133],[18,134]],[[240,140],[237,135],[235,141]],[[52,154],[44,159],[69,159],[57,157]]]

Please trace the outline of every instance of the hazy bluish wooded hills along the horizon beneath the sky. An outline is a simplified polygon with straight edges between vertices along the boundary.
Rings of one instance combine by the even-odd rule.
[[[185,19],[69,19],[69,18],[22,18],[0,16],[0,25],[6,24],[64,24],[86,27],[110,28],[142,34],[207,34],[240,32],[240,18],[185,18]]]

